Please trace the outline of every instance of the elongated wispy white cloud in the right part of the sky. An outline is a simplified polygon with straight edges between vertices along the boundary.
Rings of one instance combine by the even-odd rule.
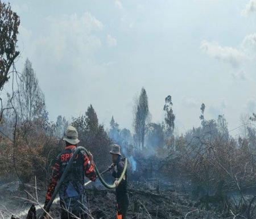
[[[246,55],[241,50],[233,47],[222,47],[216,42],[207,40],[202,41],[200,49],[209,56],[216,58],[216,60],[229,63],[234,67],[246,58]]]

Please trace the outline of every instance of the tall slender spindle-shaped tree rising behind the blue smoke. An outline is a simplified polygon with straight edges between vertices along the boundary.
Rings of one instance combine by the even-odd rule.
[[[144,87],[141,89],[141,95],[135,104],[134,129],[138,137],[139,144],[144,149],[144,139],[146,134],[147,122],[149,119],[147,93]]]

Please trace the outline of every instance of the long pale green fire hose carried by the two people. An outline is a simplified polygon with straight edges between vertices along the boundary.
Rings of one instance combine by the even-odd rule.
[[[59,192],[59,189],[60,189],[61,184],[63,183],[64,179],[66,178],[66,176],[67,176],[67,174],[68,174],[69,169],[70,169],[71,166],[72,166],[73,160],[75,159],[76,155],[77,155],[80,151],[82,151],[82,150],[84,150],[85,153],[86,153],[88,156],[90,156],[89,151],[86,150],[86,149],[85,149],[84,147],[82,147],[82,146],[79,146],[79,147],[77,147],[77,148],[75,149],[75,151],[74,151],[74,153],[73,153],[71,159],[69,159],[69,162],[68,162],[67,167],[65,168],[63,174],[61,175],[61,178],[60,178],[59,182],[57,183],[57,186],[55,187],[55,190],[54,190],[54,192],[53,192],[53,194],[52,194],[51,200],[49,200],[49,202],[48,202],[46,208],[44,209],[44,212],[42,213],[42,216],[40,216],[39,219],[43,219],[44,216],[46,216],[47,212],[49,212],[49,209],[51,208],[51,205],[52,205],[52,203],[53,203],[53,201],[54,201],[54,199],[55,199],[57,193]],[[100,182],[103,184],[103,186],[105,186],[105,187],[108,188],[108,189],[113,189],[113,188],[116,187],[114,183],[113,183],[112,185],[110,185],[110,184],[108,184],[108,183],[105,182],[105,180],[104,180],[104,179],[102,178],[102,176],[101,176],[101,173],[98,171],[96,165],[94,166],[94,168],[95,168],[95,172],[96,172],[96,174],[97,174],[97,176],[98,176],[98,179],[100,179]],[[126,168],[127,168],[127,158],[125,158],[125,166],[124,166],[124,168],[123,168],[123,172],[122,172],[120,178],[118,179],[118,184],[119,184],[119,183],[121,182],[121,180],[123,179],[123,176],[125,175]],[[106,172],[106,171],[104,171],[104,172]]]

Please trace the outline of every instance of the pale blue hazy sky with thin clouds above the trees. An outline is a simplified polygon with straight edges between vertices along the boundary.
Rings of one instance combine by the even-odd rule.
[[[5,1],[4,1],[5,2]],[[16,67],[28,58],[49,118],[92,104],[106,127],[132,129],[147,91],[152,121],[172,96],[177,132],[225,115],[229,130],[256,112],[256,0],[11,0],[20,16]]]

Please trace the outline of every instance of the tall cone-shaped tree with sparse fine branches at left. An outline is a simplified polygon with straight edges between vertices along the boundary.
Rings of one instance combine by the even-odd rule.
[[[19,117],[23,121],[48,119],[44,94],[39,87],[31,62],[27,59],[18,84],[16,100],[19,104]]]

